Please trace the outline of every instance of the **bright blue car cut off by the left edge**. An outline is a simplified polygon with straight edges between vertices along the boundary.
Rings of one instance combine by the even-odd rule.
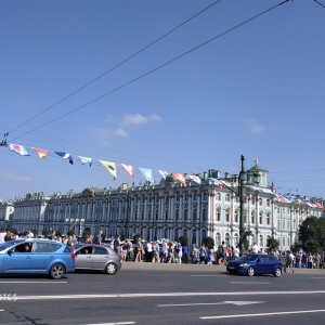
[[[0,274],[49,274],[62,278],[75,271],[75,253],[63,243],[14,239],[0,244]]]

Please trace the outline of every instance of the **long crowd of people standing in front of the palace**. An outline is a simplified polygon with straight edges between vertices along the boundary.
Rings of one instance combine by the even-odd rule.
[[[31,230],[24,233],[13,233],[9,230],[0,230],[0,244],[17,239],[17,238],[34,238]],[[84,235],[82,238],[77,238],[76,235],[58,235],[55,230],[48,236],[49,239],[62,242],[68,246],[77,244],[95,244],[103,243],[103,232],[99,231],[94,235]],[[195,263],[195,264],[222,264],[226,265],[230,260],[238,259],[242,255],[238,246],[225,245],[224,242],[214,250],[211,246],[202,244],[199,247],[192,245],[190,251],[187,246],[179,242],[162,242],[153,240],[146,242],[138,238],[136,243],[131,239],[121,240],[121,234],[110,237],[107,244],[114,249],[122,261],[134,262],[153,262],[153,263]],[[256,243],[250,247],[248,252],[252,253],[270,253],[282,261],[284,268],[291,272],[295,269],[322,269],[325,266],[325,252],[312,253],[306,252],[302,249],[299,251],[278,251],[277,249],[266,250],[258,249]]]

